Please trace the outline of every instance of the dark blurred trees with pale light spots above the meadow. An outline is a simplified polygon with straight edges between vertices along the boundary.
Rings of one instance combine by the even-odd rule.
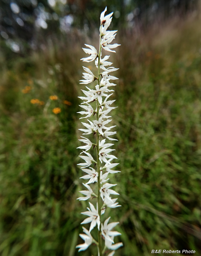
[[[43,48],[49,39],[76,29],[91,35],[99,27],[100,13],[107,5],[114,12],[110,29],[134,28],[197,9],[198,0],[0,0],[0,39],[13,52],[26,55]],[[161,15],[162,14],[162,15]]]

